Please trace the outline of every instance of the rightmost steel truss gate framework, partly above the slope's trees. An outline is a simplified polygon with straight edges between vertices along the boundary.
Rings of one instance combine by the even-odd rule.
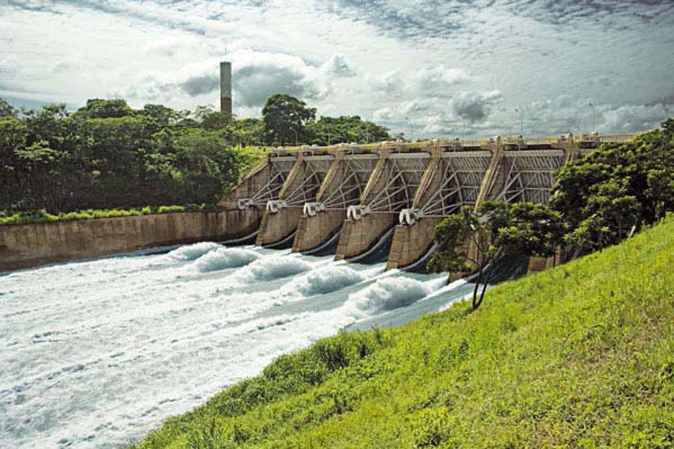
[[[506,151],[508,176],[497,197],[506,203],[547,203],[555,182],[554,172],[564,163],[564,152],[553,150]]]

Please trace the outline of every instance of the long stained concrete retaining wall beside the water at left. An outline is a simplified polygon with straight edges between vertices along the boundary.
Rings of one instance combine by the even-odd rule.
[[[255,232],[241,211],[185,212],[0,226],[0,272]]]

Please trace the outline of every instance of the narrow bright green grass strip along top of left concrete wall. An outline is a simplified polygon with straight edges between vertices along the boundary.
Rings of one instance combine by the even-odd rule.
[[[154,213],[193,212],[208,210],[206,205],[185,206],[145,206],[131,209],[84,209],[75,212],[49,213],[45,209],[37,211],[0,211],[0,226],[24,223],[50,223],[53,221],[84,220],[93,218],[130,217],[152,215]]]

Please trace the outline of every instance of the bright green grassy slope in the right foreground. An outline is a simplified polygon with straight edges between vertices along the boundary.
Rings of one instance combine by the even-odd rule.
[[[340,334],[139,448],[674,446],[674,215],[386,331]]]

